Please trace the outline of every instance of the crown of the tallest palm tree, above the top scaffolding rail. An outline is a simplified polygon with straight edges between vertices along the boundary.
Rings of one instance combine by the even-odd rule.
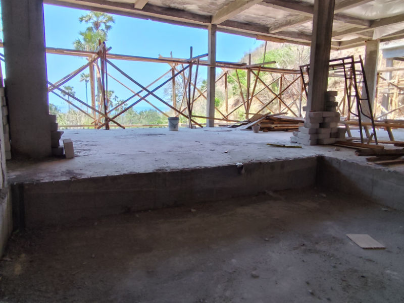
[[[93,51],[98,47],[98,39],[108,40],[108,32],[111,30],[111,23],[115,23],[113,16],[107,13],[90,12],[79,18],[80,23],[90,25],[84,32],[80,32],[81,39],[73,42],[74,48],[79,50]]]

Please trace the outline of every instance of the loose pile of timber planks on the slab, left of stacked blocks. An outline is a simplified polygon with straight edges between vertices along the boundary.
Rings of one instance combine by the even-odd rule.
[[[295,131],[305,123],[304,118],[289,117],[283,113],[274,114],[255,114],[248,120],[240,121],[228,127],[238,130],[251,129],[252,126],[259,124],[260,130],[267,131]]]

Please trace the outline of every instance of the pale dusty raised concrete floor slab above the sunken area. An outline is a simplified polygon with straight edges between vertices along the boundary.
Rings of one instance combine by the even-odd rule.
[[[404,130],[393,131],[396,140],[404,141]],[[7,162],[10,183],[21,181],[53,181],[69,178],[117,175],[156,170],[212,167],[248,161],[271,161],[326,155],[365,165],[365,157],[355,150],[335,146],[302,146],[301,149],[269,147],[266,143],[290,144],[290,132],[255,134],[227,128],[126,130],[67,130],[62,139],[71,138],[76,157],[50,158],[46,161]],[[359,131],[352,130],[359,137]],[[378,138],[388,140],[387,132]],[[386,146],[392,148],[392,146]],[[377,167],[380,167],[376,165]],[[404,165],[386,169],[404,172]]]

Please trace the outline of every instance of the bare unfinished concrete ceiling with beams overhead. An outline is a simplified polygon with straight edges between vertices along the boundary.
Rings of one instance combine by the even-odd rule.
[[[310,45],[314,0],[44,0],[259,39]],[[333,49],[404,38],[404,0],[336,0]]]

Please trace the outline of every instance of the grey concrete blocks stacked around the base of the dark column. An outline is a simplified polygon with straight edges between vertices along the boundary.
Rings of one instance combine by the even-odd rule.
[[[305,124],[290,138],[291,142],[316,145],[333,144],[345,140],[345,129],[338,128],[340,114],[337,111],[337,92],[327,92],[325,111],[307,111]]]

